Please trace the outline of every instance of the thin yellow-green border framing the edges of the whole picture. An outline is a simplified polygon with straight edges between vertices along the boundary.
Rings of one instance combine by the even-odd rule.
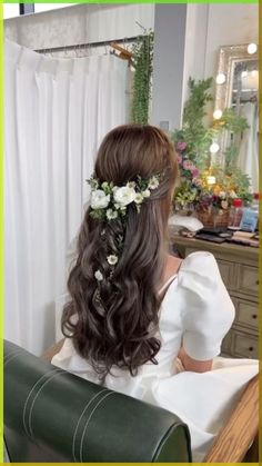
[[[36,1],[16,1],[16,0],[7,0],[0,2],[0,464],[3,464],[3,3],[69,3],[64,2],[63,0],[36,0]],[[100,1],[85,1],[85,0],[73,0],[70,3],[236,3],[236,4],[243,4],[243,3],[259,3],[259,18],[262,19],[262,1],[259,0],[194,0],[194,1],[187,1],[187,0],[100,0]],[[259,29],[259,42],[262,43],[262,29],[260,27]],[[262,47],[260,47],[259,50],[259,70],[260,70],[260,90],[259,96],[261,96],[262,90]],[[261,110],[261,107],[260,107]],[[261,112],[260,112],[261,115]],[[262,160],[262,116],[260,118],[260,145],[259,145],[259,152],[260,152],[260,160]],[[262,197],[262,169],[260,166],[260,194]],[[262,231],[262,202],[260,201],[260,230]],[[262,251],[261,251],[262,244],[260,242],[260,255],[259,255],[259,267],[260,267],[260,277],[262,276]],[[262,309],[262,282],[260,280],[259,285],[259,308]],[[260,336],[262,334],[262,317],[259,319],[259,329],[260,329]],[[262,341],[260,338],[260,345],[259,345],[259,355],[260,360],[262,360]],[[260,390],[261,384],[260,384]],[[261,395],[261,391],[260,391]],[[261,415],[261,413],[260,413]],[[260,417],[261,418],[261,417]],[[262,432],[260,429],[260,458],[262,458]],[[17,463],[17,465],[23,465],[28,463]],[[46,463],[42,463],[46,464]],[[70,465],[71,463],[64,463],[64,465]],[[113,466],[115,463],[103,463],[108,466]],[[131,465],[138,465],[141,466],[150,465],[151,463],[127,463],[127,466]],[[160,463],[160,465],[164,465],[165,463]],[[195,465],[201,466],[202,463],[194,463]],[[235,465],[235,463],[229,463],[230,465]],[[16,465],[16,463],[14,463]],[[58,463],[47,463],[47,465],[58,465]],[[80,465],[80,463],[79,463]],[[98,463],[89,463],[89,465],[98,465]],[[124,463],[122,463],[124,465]],[[174,464],[175,465],[175,464]],[[223,465],[223,463],[216,463],[216,465]],[[254,466],[259,463],[246,463],[246,465]]]

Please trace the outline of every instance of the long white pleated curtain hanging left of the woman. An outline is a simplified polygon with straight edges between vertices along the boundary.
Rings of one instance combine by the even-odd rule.
[[[98,146],[127,121],[129,72],[113,56],[50,59],[6,41],[4,75],[4,337],[40,354]]]

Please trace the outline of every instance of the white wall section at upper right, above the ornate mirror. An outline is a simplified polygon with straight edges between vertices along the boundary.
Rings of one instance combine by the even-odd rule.
[[[250,42],[259,42],[258,3],[188,4],[182,102],[188,97],[189,77],[215,77],[220,47]],[[211,102],[208,119],[212,110]]]

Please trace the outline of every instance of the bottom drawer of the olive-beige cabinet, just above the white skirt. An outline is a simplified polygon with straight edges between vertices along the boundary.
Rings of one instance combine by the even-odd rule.
[[[233,356],[254,359],[258,358],[259,338],[235,330],[231,330],[231,353]]]

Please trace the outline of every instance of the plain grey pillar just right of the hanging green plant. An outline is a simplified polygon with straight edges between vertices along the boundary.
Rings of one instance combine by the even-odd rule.
[[[155,6],[151,122],[165,130],[181,123],[185,22],[187,4]]]

